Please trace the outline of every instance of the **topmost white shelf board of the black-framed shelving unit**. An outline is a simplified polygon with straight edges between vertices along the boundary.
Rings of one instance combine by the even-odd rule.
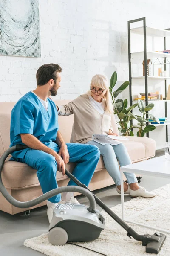
[[[142,26],[142,27],[130,29],[130,31],[136,34],[143,34],[144,27]],[[154,29],[154,28],[146,27],[146,35],[166,37],[166,36],[170,36],[170,30]]]

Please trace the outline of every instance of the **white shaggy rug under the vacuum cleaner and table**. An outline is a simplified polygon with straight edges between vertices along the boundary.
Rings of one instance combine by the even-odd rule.
[[[170,231],[170,201],[168,201],[170,198],[170,184],[156,189],[154,192],[156,192],[157,195],[155,198],[146,199],[138,197],[126,202],[126,217],[132,216],[133,214],[136,214],[136,212],[139,213],[139,211],[142,211],[146,207],[160,203],[158,208],[153,208],[152,210],[148,210],[141,214],[139,213],[138,216],[132,217],[132,220],[141,224],[148,224],[150,227],[164,228]],[[113,207],[112,210],[117,215],[121,216],[120,204]],[[133,238],[130,239],[127,236],[127,232],[107,213],[103,211],[102,215],[106,220],[106,227],[105,230],[102,231],[99,239],[88,243],[76,243],[80,246],[95,250],[98,253],[72,244],[53,246],[48,241],[48,233],[26,240],[24,245],[48,256],[99,256],[101,254],[106,256],[150,255],[145,252],[145,246],[142,246],[141,242],[136,241]],[[127,224],[139,234],[150,233],[152,235],[154,233],[154,230],[140,227],[136,224]],[[167,234],[167,239],[157,255],[170,256],[170,234]]]

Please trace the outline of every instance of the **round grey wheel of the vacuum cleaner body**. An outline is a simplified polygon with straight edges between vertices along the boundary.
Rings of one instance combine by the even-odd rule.
[[[54,227],[48,233],[48,240],[52,245],[64,245],[68,241],[68,234],[62,227]]]

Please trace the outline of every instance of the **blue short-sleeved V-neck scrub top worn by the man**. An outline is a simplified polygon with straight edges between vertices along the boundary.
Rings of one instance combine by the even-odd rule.
[[[49,148],[56,147],[58,113],[55,103],[48,100],[48,111],[34,93],[26,93],[11,111],[10,147],[22,144],[20,134],[32,134]],[[14,151],[13,157],[23,158],[28,149]]]

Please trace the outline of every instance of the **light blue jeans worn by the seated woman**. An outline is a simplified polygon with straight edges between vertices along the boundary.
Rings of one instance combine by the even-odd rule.
[[[106,170],[111,175],[116,186],[119,186],[120,185],[119,165],[125,166],[132,163],[125,145],[124,144],[118,144],[114,146],[110,144],[102,145],[94,140],[90,140],[86,144],[96,145],[99,148],[100,154],[103,157],[103,162],[105,164]],[[119,161],[119,165],[117,160]],[[136,179],[136,175],[134,173],[125,172],[124,174],[129,184],[138,182]]]

